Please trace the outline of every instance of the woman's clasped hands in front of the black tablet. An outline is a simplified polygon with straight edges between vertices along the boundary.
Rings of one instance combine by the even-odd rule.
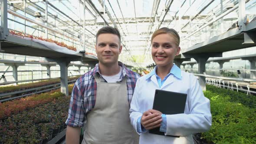
[[[145,111],[141,117],[141,125],[147,130],[158,128],[161,126],[162,113],[156,110],[152,112],[151,111],[152,110]]]

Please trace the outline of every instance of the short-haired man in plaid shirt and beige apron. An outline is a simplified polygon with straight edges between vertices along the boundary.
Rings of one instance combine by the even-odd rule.
[[[128,111],[139,75],[118,62],[122,46],[116,28],[98,30],[95,50],[99,63],[73,87],[66,143],[79,144],[80,127],[86,121],[82,144],[134,144],[138,135]]]

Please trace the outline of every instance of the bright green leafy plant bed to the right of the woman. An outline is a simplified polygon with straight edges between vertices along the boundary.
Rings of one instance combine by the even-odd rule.
[[[198,144],[256,144],[256,97],[207,85],[212,126],[195,134]]]

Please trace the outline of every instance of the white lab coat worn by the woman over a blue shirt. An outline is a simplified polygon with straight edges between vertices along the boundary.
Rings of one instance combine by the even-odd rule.
[[[156,89],[187,94],[184,114],[166,115],[166,135],[182,137],[168,137],[157,134],[138,133],[140,144],[194,144],[192,134],[208,131],[211,126],[210,101],[205,98],[197,78],[181,71],[181,79],[169,75],[159,88],[156,75],[146,79],[146,75],[138,79],[131,101],[131,124],[137,131],[137,120],[144,111],[152,109]],[[138,131],[137,131],[138,132]]]

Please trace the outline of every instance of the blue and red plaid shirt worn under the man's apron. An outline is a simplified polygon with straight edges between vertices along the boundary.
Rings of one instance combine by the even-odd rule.
[[[139,75],[125,67],[124,64],[118,62],[118,65],[122,67],[122,73],[117,82],[120,82],[125,75],[127,75],[127,100],[130,105],[131,98],[134,92],[136,81]],[[84,121],[86,121],[86,114],[94,108],[96,101],[97,83],[93,75],[99,73],[98,64],[86,72],[79,79],[76,80],[72,90],[69,116],[66,120],[66,124],[71,127],[82,127]],[[101,75],[99,76],[102,82],[107,82]]]

